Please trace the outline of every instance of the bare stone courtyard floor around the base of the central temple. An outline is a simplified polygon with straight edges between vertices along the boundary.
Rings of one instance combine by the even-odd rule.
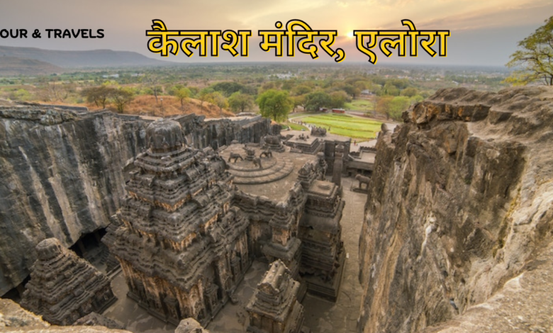
[[[347,253],[345,273],[342,278],[342,288],[336,303],[323,300],[316,296],[306,295],[303,299],[305,308],[305,325],[311,332],[345,333],[357,332],[357,317],[359,317],[359,302],[362,288],[359,285],[359,255],[357,247],[361,232],[362,210],[356,209],[364,205],[367,195],[350,191],[357,186],[357,181],[350,178],[342,179],[345,188],[344,198],[347,203],[342,217],[342,239]],[[243,333],[247,327],[247,313],[245,305],[252,297],[257,283],[261,281],[267,270],[267,263],[254,261],[250,270],[244,276],[242,283],[236,290],[238,304],[227,303],[206,327],[212,333]],[[118,300],[104,312],[110,317],[125,324],[126,328],[135,333],[173,333],[175,326],[152,317],[135,301],[126,298],[128,288],[123,274],[119,273],[111,282],[113,293]]]

